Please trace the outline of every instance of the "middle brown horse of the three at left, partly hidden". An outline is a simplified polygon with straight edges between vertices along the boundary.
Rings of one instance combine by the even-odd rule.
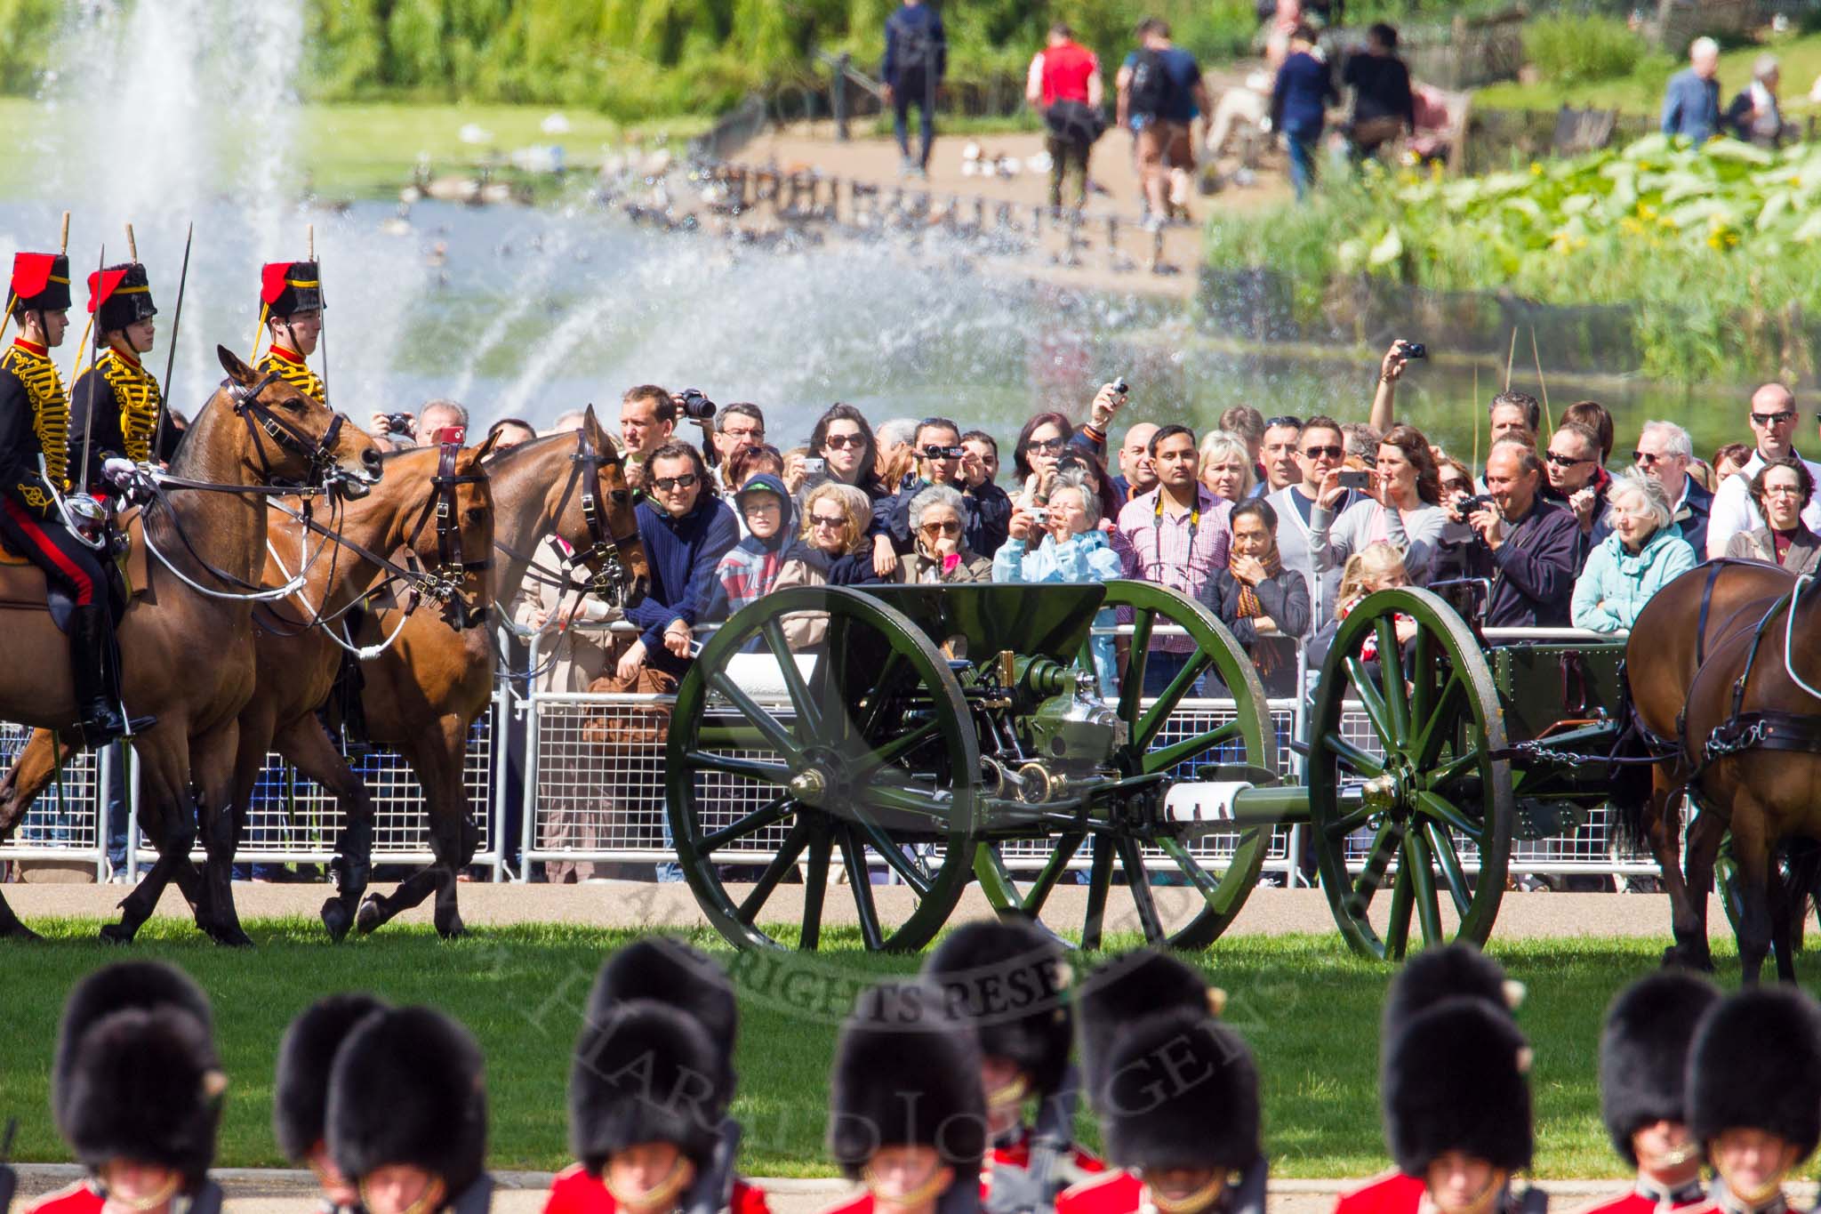
[[[266,582],[286,586],[297,575],[306,579],[306,584],[290,599],[253,608],[257,675],[253,697],[240,710],[231,801],[233,834],[239,845],[253,784],[259,781],[268,750],[279,739],[284,754],[304,775],[348,806],[348,826],[337,841],[335,874],[341,888],[322,905],[322,921],[335,939],[348,934],[361,894],[366,890],[373,815],[366,786],[348,770],[315,715],[341,668],[341,648],[335,646],[330,630],[342,628],[339,617],[373,588],[381,573],[386,573],[388,582],[401,582],[410,592],[412,610],[435,599],[428,586],[441,573],[444,581],[437,581],[435,590],[446,595],[443,615],[459,626],[484,622],[493,502],[481,460],[492,446],[488,440],[479,450],[455,453],[450,477],[439,475],[441,448],[419,448],[388,457],[382,462],[381,484],[368,497],[342,506],[328,526],[299,521],[297,499],[280,499],[279,513],[271,519]],[[432,522],[433,517],[444,517],[448,522],[439,528]],[[392,561],[388,553],[399,550],[412,551],[428,575]],[[461,561],[461,570],[444,570],[444,564],[453,562],[450,551],[466,553],[470,559]],[[461,599],[450,593],[455,590],[453,577],[461,577]],[[64,754],[67,752],[56,746],[49,730],[33,732],[13,761],[5,783],[0,784],[9,812],[24,812],[15,803],[29,806],[49,786]],[[211,890],[211,908],[220,936],[246,937],[231,892],[224,897],[219,890]]]

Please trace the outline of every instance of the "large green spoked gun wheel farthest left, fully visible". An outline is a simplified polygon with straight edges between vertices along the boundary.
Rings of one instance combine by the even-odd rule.
[[[821,637],[792,650],[798,624]],[[665,799],[677,863],[734,945],[816,948],[845,897],[867,948],[912,950],[969,881],[978,772],[961,688],[905,615],[787,588],[736,613],[683,677]],[[785,910],[792,885],[801,906]],[[794,939],[761,919],[794,919]]]

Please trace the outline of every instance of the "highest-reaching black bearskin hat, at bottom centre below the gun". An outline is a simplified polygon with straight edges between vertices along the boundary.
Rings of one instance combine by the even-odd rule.
[[[1033,1096],[1062,1087],[1074,1041],[1069,961],[1062,943],[1029,919],[965,923],[923,961],[949,1010],[972,1021],[980,1052],[1009,1059]]]

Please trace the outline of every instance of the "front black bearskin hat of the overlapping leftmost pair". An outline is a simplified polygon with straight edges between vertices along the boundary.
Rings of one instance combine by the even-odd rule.
[[[157,1163],[195,1190],[215,1158],[228,1077],[209,1027],[175,1003],[122,1007],[80,1034],[56,1085],[56,1128],[91,1170]]]

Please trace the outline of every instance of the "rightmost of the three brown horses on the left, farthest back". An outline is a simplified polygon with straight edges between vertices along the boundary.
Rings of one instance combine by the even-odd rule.
[[[650,573],[634,499],[619,453],[592,408],[577,433],[501,451],[488,460],[486,471],[493,482],[495,551],[503,557],[495,566],[495,602],[510,602],[534,557],[541,570],[554,566],[548,553],[537,553],[550,535],[574,548],[581,557],[577,564],[586,564],[594,575],[592,581],[574,575],[574,593],[592,586],[628,604],[645,597]],[[361,641],[373,644],[397,626],[397,612],[379,612],[366,621]],[[404,621],[397,642],[364,664],[361,699],[368,735],[393,746],[417,774],[435,861],[390,895],[370,894],[357,919],[361,932],[375,930],[432,894],[437,932],[459,936],[464,930],[455,875],[473,859],[479,832],[468,821],[463,764],[468,732],[492,703],[493,672],[492,637],[452,632],[428,615]]]

